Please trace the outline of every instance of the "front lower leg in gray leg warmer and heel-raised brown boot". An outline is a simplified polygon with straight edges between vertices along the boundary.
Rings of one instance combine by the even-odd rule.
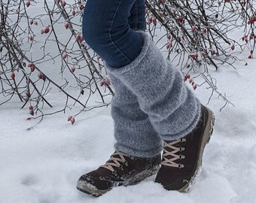
[[[166,189],[184,192],[199,171],[214,116],[200,105],[181,74],[163,58],[148,35],[137,33],[144,38],[139,56],[129,65],[107,69],[137,96],[139,107],[165,141],[155,181]]]

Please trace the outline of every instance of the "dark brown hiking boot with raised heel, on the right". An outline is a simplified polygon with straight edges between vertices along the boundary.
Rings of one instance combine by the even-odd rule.
[[[186,192],[202,164],[203,150],[212,135],[214,115],[201,106],[201,117],[193,132],[176,141],[165,141],[162,166],[155,182],[165,189]]]

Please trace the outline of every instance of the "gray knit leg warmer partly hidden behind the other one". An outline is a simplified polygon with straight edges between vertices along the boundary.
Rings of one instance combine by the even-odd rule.
[[[115,149],[131,156],[151,157],[161,152],[163,141],[133,95],[117,77],[109,74],[114,97],[111,115],[114,120]]]

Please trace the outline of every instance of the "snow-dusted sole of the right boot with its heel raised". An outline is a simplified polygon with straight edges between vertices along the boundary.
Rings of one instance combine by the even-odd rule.
[[[209,108],[206,108],[206,109],[208,111],[208,120],[206,123],[206,129],[203,132],[203,138],[200,145],[200,152],[197,160],[197,169],[194,173],[194,176],[191,177],[190,181],[186,185],[184,185],[181,189],[178,189],[179,192],[188,192],[188,189],[190,188],[190,186],[194,184],[194,180],[200,174],[200,168],[202,166],[202,159],[203,159],[203,150],[205,149],[206,144],[209,143],[209,140],[213,132],[213,126],[215,125],[215,116],[213,112],[209,110]]]

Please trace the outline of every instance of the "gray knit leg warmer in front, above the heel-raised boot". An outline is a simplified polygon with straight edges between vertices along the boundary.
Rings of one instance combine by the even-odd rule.
[[[145,32],[138,33],[144,38],[139,56],[121,68],[107,65],[108,73],[117,77],[136,95],[139,102],[136,111],[140,108],[148,114],[152,126],[161,138],[170,141],[184,137],[197,125],[200,102],[187,88],[179,71],[163,58],[148,35]],[[113,114],[113,117],[116,115]],[[133,129],[133,126],[127,128]],[[144,126],[140,130],[147,131]],[[139,135],[136,129],[134,133]],[[135,144],[136,141],[138,139],[134,141]],[[145,140],[145,144],[141,145],[146,144],[151,144],[151,141]]]

